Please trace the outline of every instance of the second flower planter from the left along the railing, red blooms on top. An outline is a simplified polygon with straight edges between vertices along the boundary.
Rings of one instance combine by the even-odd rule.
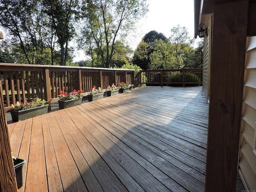
[[[83,90],[73,90],[72,92],[67,93],[60,90],[60,100],[58,100],[59,108],[65,109],[82,104],[83,92]]]

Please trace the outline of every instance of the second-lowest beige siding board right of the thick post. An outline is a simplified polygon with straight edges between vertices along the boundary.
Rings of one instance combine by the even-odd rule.
[[[241,146],[241,152],[246,158],[246,161],[248,162],[248,165],[252,168],[252,172],[254,173],[254,176],[256,175],[256,155],[252,153],[252,147],[246,140],[244,139],[244,142]],[[256,180],[255,180],[256,182]],[[254,188],[255,189],[255,188]]]

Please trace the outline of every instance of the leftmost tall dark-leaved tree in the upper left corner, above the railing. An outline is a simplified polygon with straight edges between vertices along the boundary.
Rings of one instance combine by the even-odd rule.
[[[0,24],[8,30],[8,35],[16,38],[13,40],[19,44],[28,64],[42,64],[41,56],[45,48],[41,33],[44,15],[37,8],[41,8],[38,0],[0,2]]]

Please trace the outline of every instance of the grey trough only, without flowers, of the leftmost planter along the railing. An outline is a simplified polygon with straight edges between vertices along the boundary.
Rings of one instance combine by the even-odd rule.
[[[17,121],[22,121],[25,119],[29,119],[38,115],[43,115],[48,113],[48,104],[43,105],[43,106],[38,106],[30,109],[25,109],[21,111],[11,111],[12,115],[12,121],[17,122]]]

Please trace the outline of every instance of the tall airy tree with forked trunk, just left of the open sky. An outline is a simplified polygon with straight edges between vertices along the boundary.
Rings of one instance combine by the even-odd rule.
[[[90,50],[98,49],[104,67],[110,67],[116,41],[123,41],[147,11],[146,0],[85,0],[82,35]]]

